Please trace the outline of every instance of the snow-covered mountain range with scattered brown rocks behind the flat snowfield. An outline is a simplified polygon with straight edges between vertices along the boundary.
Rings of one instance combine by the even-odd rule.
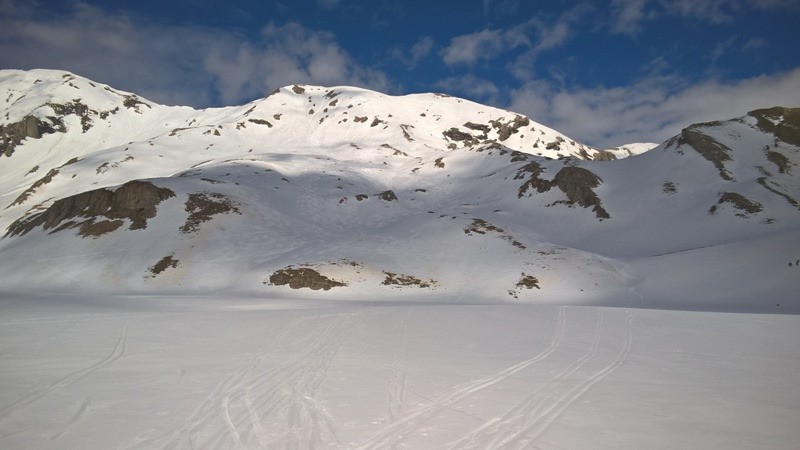
[[[6,290],[800,308],[797,108],[600,150],[440,94],[0,97]]]

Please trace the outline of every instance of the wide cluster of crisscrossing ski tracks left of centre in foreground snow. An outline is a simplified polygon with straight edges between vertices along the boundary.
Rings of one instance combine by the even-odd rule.
[[[256,353],[223,380],[176,428],[137,446],[299,449],[338,444],[334,420],[319,394],[332,361],[360,324],[353,314],[295,322],[268,351]],[[280,349],[298,351],[285,365],[264,367]]]

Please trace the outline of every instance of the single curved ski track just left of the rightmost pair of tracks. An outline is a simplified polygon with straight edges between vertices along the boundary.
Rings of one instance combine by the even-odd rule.
[[[561,345],[565,330],[565,316],[566,307],[561,306],[558,311],[555,331],[553,333],[553,338],[550,342],[550,345],[538,355],[501,370],[492,376],[454,387],[450,392],[439,395],[433,403],[410,411],[400,419],[395,420],[372,438],[361,444],[357,444],[356,448],[378,449],[394,447],[406,436],[416,431],[423,423],[430,420],[442,409],[468,398],[471,395],[481,392],[484,389],[507,379],[522,369],[525,369],[547,358]]]

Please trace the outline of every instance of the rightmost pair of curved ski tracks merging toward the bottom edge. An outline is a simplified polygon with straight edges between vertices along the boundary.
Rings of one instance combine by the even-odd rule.
[[[604,310],[598,308],[594,337],[588,352],[552,380],[526,396],[502,416],[487,421],[462,439],[449,445],[459,449],[525,448],[533,444],[578,398],[592,386],[614,372],[628,358],[633,345],[634,314],[627,313],[624,322],[622,348],[616,359],[600,370],[589,372],[578,380],[570,377],[587,363],[599,357],[603,337]]]

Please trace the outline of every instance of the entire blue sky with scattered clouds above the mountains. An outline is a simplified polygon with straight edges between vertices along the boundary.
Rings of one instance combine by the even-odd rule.
[[[596,146],[800,106],[800,0],[0,0],[0,68],[165,104],[445,92]]]

